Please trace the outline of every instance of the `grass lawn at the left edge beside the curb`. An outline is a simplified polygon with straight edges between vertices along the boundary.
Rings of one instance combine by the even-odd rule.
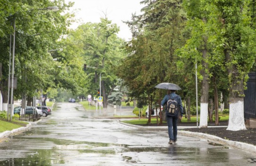
[[[12,122],[0,120],[0,132],[11,131],[15,128],[26,126],[28,123],[24,121],[12,120]]]

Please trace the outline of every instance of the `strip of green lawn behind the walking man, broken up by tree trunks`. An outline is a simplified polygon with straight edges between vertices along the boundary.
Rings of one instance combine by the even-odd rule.
[[[219,121],[227,121],[229,120],[229,115],[220,115],[220,120]],[[196,116],[191,116],[190,117],[190,122],[197,122],[197,117]],[[198,117],[198,122],[200,121],[200,118]],[[214,119],[215,121],[215,119]],[[140,120],[129,120],[129,121],[122,121],[124,123],[128,123],[128,124],[133,124],[133,125],[146,125],[148,122],[148,119],[140,119]],[[159,122],[159,118],[158,118],[158,122]],[[186,118],[183,117],[182,119],[182,123],[187,123],[188,120]],[[152,117],[151,118],[151,123],[152,124],[156,124],[157,123],[157,118],[156,117]],[[163,123],[166,123],[166,121],[163,121]]]

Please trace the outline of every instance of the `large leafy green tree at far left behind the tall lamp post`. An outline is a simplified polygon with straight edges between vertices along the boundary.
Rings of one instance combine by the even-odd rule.
[[[50,6],[58,6],[58,12],[41,10]],[[29,98],[36,94],[36,89],[53,86],[49,76],[49,68],[54,66],[52,57],[47,51],[57,46],[57,40],[67,33],[67,25],[72,15],[61,14],[72,6],[66,5],[64,0],[17,2],[9,0],[1,5],[6,13],[1,15],[2,36],[0,41],[0,61],[3,64],[0,90],[3,94],[3,102],[7,103],[8,94],[8,68],[10,38],[13,33],[11,23],[16,24],[16,45],[15,45],[15,76],[18,79],[18,88],[15,97],[21,94]],[[1,17],[1,18],[2,18]],[[5,105],[7,108],[7,104]],[[5,108],[4,108],[5,109]]]

